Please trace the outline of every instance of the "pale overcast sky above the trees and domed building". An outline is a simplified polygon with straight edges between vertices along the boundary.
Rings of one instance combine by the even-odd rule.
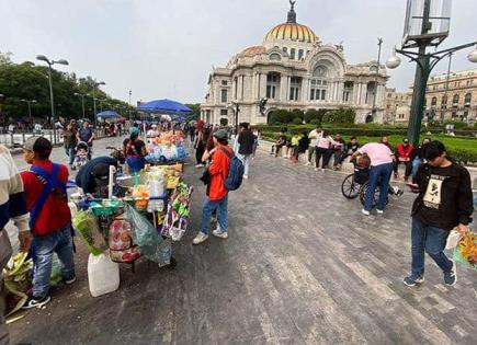
[[[399,46],[406,0],[297,0],[297,22],[323,43],[343,42],[348,64],[382,61]],[[38,54],[65,58],[58,69],[93,76],[110,95],[132,102],[173,99],[198,103],[212,67],[225,66],[243,48],[260,45],[286,21],[288,0],[0,0],[0,51],[13,61]],[[454,0],[451,33],[441,48],[477,39],[477,0]],[[477,68],[470,50],[454,56],[452,70]],[[38,61],[39,62],[39,61]],[[407,91],[416,65],[402,58],[388,87]],[[434,73],[446,72],[442,61]]]

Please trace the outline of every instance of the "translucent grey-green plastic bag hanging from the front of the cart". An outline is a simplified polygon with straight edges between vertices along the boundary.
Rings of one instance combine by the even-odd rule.
[[[162,240],[156,228],[133,206],[126,205],[127,219],[132,223],[133,242],[139,246],[143,256],[160,265],[169,265],[171,258],[170,242]]]

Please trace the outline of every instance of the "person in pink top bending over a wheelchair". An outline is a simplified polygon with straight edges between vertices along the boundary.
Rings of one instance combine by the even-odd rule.
[[[373,208],[374,193],[379,185],[379,199],[377,200],[376,211],[383,214],[387,200],[389,180],[393,174],[394,154],[388,146],[382,142],[370,142],[360,148],[353,158],[360,154],[367,154],[371,160],[370,180],[367,182],[366,196],[364,202],[363,215],[370,216]]]

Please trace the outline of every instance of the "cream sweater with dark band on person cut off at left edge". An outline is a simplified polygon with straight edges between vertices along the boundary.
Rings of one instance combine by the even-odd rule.
[[[23,183],[10,150],[0,145],[0,230],[13,220],[20,231],[29,231]]]

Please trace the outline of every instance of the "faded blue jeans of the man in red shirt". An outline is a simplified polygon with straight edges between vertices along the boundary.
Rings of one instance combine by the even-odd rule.
[[[75,261],[72,254],[71,225],[59,229],[55,233],[36,237],[35,245],[35,274],[33,277],[33,296],[44,298],[48,295],[49,277],[52,276],[52,256],[56,252],[61,262],[61,276],[64,279],[75,277]]]

